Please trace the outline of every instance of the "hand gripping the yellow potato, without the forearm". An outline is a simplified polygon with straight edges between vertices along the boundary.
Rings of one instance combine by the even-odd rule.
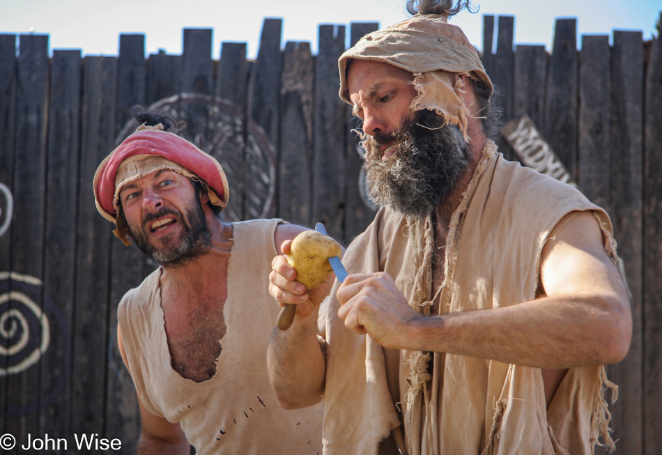
[[[329,295],[335,275],[331,274],[320,286],[306,291],[306,286],[295,281],[297,272],[285,257],[290,254],[291,245],[292,240],[285,240],[281,245],[283,255],[275,256],[271,261],[269,293],[281,306],[286,303],[297,305],[297,315],[306,317]]]

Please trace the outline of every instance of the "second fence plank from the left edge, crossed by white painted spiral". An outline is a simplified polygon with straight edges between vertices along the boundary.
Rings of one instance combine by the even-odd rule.
[[[15,114],[15,162],[13,178],[14,216],[11,231],[12,256],[10,270],[43,280],[44,215],[46,182],[46,140],[48,107],[48,36],[21,35],[17,58],[17,91]],[[26,235],[29,232],[29,235]],[[29,328],[16,318],[28,344],[13,355],[11,367],[17,372],[7,380],[7,430],[17,440],[26,440],[36,433],[40,412],[41,360],[24,363],[29,352],[44,355],[46,332],[38,320],[43,308],[40,284],[22,289],[22,280],[11,284],[12,290],[22,290],[35,304],[29,308],[17,298],[9,307],[17,309],[28,321]],[[29,330],[29,331],[28,331]],[[21,359],[22,357],[22,359]],[[15,416],[15,417],[12,417]]]

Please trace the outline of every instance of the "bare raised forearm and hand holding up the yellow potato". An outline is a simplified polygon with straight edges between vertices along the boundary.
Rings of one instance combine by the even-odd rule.
[[[282,244],[288,254],[291,240]],[[296,304],[297,313],[292,326],[274,329],[267,350],[267,365],[271,385],[281,406],[286,409],[303,408],[318,403],[324,392],[326,363],[317,338],[319,304],[330,292],[334,276],[316,289],[306,292],[305,286],[295,282],[296,270],[285,256],[272,261],[269,292],[283,305]]]

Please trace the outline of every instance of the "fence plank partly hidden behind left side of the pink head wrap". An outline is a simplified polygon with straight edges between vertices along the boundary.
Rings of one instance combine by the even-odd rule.
[[[117,59],[116,131],[133,119],[131,107],[146,100],[146,61],[144,35],[121,35]],[[116,139],[116,143],[120,139]],[[106,229],[112,229],[107,223]],[[110,300],[108,326],[108,365],[104,434],[109,438],[122,435],[122,450],[133,453],[137,448],[136,427],[139,412],[133,383],[117,348],[117,305],[130,288],[138,286],[144,274],[144,255],[135,247],[125,247],[111,238]]]

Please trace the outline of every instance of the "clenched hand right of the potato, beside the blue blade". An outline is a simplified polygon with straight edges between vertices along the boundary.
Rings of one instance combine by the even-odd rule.
[[[404,328],[424,316],[409,307],[394,279],[385,272],[350,275],[336,294],[338,316],[358,334],[369,334],[385,348],[406,349]]]

